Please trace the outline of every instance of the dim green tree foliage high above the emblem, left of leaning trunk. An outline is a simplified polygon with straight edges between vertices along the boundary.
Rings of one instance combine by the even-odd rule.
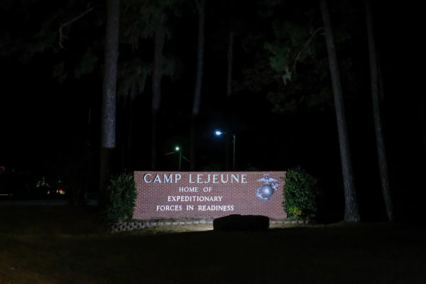
[[[328,58],[321,51],[324,44],[318,40],[324,28],[317,27],[317,10],[274,1],[272,6],[263,7],[261,15],[271,23],[272,34],[263,35],[267,36],[263,39],[264,52],[257,57],[266,60],[270,71],[258,66],[257,70],[261,67],[263,74],[255,69],[249,75],[253,82],[257,81],[257,87],[265,85],[261,90],[268,90],[273,111],[293,115],[302,109],[332,110],[331,86],[327,84]]]

